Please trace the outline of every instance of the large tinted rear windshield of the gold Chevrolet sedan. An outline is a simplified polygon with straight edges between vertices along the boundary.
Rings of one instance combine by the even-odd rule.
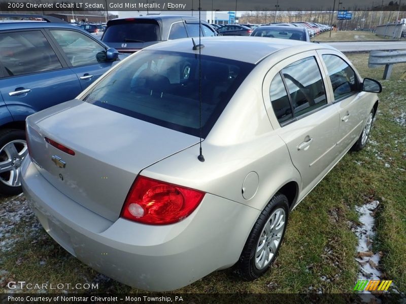
[[[201,125],[206,137],[253,64],[201,56]],[[113,69],[85,101],[199,136],[199,60],[194,54],[143,50]]]

